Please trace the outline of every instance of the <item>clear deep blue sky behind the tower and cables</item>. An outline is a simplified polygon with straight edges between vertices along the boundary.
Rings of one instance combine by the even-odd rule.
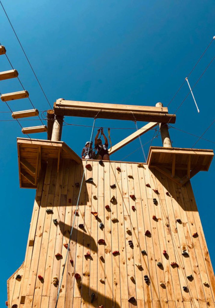
[[[202,55],[213,35],[214,1],[56,1],[2,0],[19,39],[53,104],[56,99],[167,106],[185,77]],[[49,109],[32,71],[18,45],[0,6],[0,41],[33,104],[40,111]],[[189,77],[191,86],[213,59],[215,40]],[[9,70],[5,56],[0,56],[1,71]],[[191,95],[176,113],[175,128],[201,136],[214,119],[214,69],[210,65],[194,88],[200,114]],[[22,90],[17,79],[0,82],[1,93]],[[174,113],[188,93],[185,83],[169,106]],[[8,111],[0,103],[0,111]],[[31,109],[28,99],[10,102],[13,111]],[[0,120],[11,120],[10,113],[0,112]],[[93,119],[65,118],[67,123],[92,125]],[[21,121],[26,126],[39,121]],[[143,126],[138,123],[138,126]],[[134,128],[133,122],[97,120],[96,126]],[[111,130],[113,144],[132,130]],[[141,137],[143,144],[154,131]],[[173,146],[191,148],[198,139],[170,129]],[[1,138],[1,229],[2,292],[0,305],[7,297],[6,279],[21,265],[29,232],[35,190],[20,189],[18,180],[16,137],[23,136],[16,121],[0,121]],[[46,134],[33,138],[46,139]],[[90,129],[64,126],[62,140],[80,154],[90,138]],[[214,140],[214,125],[204,138]],[[153,145],[161,146],[158,137]],[[148,151],[149,143],[144,146]],[[141,161],[136,151],[139,140],[118,151],[113,159]],[[213,149],[214,143],[199,140],[196,148]],[[214,169],[200,172],[192,180],[202,225],[213,267],[214,247]]]

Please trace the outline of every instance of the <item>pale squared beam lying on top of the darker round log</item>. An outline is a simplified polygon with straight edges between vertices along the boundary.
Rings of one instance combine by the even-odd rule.
[[[57,99],[56,107],[70,107],[78,109],[97,109],[109,110],[109,111],[129,111],[129,112],[149,112],[149,113],[168,113],[167,107],[153,107],[153,106],[136,106],[136,105],[121,105],[121,104],[109,104],[109,103],[91,103],[91,102],[79,102],[75,100]]]

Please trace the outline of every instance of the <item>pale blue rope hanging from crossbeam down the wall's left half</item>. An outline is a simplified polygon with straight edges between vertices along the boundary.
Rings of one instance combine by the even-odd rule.
[[[100,111],[101,111],[101,110],[98,111],[97,115],[99,114]],[[92,131],[91,131],[91,136],[90,136],[90,143],[91,143],[91,141],[92,141],[92,139],[93,139],[93,133],[94,133],[94,127],[95,127],[95,120],[96,120],[97,115],[94,117],[93,126],[92,126]],[[88,148],[87,155],[89,154],[89,150],[90,150],[90,147]],[[85,170],[86,170],[86,165],[87,165],[87,159],[86,159],[85,167],[84,167],[84,170],[83,170],[83,176],[82,176],[81,185],[80,185],[80,189],[79,189],[78,200],[77,200],[77,203],[76,203],[76,208],[75,208],[75,213],[74,213],[74,219],[73,219],[73,222],[72,222],[72,228],[71,228],[71,232],[70,232],[70,237],[69,237],[69,243],[68,243],[68,247],[67,247],[66,258],[65,258],[64,265],[63,265],[63,272],[62,272],[60,284],[59,284],[59,287],[58,287],[58,293],[57,293],[57,300],[56,300],[55,308],[57,308],[57,303],[58,303],[58,299],[59,299],[59,295],[60,295],[60,289],[61,289],[61,285],[62,285],[62,281],[63,281],[63,274],[64,274],[64,270],[65,270],[65,267],[66,267],[67,256],[68,256],[69,246],[70,246],[71,237],[72,237],[72,231],[73,231],[74,224],[75,224],[75,217],[76,217],[76,213],[77,213],[78,206],[79,206],[79,199],[80,199],[80,195],[81,195],[81,189],[82,189],[82,185],[83,185],[83,180],[84,180],[84,174],[85,174]]]

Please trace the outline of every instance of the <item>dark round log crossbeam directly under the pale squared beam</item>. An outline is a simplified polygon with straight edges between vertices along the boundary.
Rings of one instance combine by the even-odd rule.
[[[55,107],[56,115],[77,116],[84,118],[97,118],[100,119],[114,119],[114,120],[134,120],[144,122],[162,122],[162,123],[175,123],[176,116],[165,113],[154,112],[140,112],[140,111],[111,111],[98,109],[84,109],[84,108],[70,108],[70,107]]]

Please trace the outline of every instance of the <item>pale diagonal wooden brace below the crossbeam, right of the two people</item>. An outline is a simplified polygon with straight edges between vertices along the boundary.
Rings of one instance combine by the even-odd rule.
[[[144,125],[142,128],[138,129],[136,132],[134,132],[133,134],[131,134],[130,136],[126,137],[125,139],[121,140],[120,142],[118,142],[117,144],[115,144],[111,150],[109,149],[109,155],[115,153],[116,151],[118,151],[119,149],[121,149],[122,147],[124,147],[126,144],[129,144],[130,142],[132,142],[133,140],[135,140],[136,138],[138,138],[138,136],[143,135],[144,133],[148,132],[150,129],[152,129],[153,127],[155,127],[158,123],[154,123],[154,122],[150,122],[146,125]]]

